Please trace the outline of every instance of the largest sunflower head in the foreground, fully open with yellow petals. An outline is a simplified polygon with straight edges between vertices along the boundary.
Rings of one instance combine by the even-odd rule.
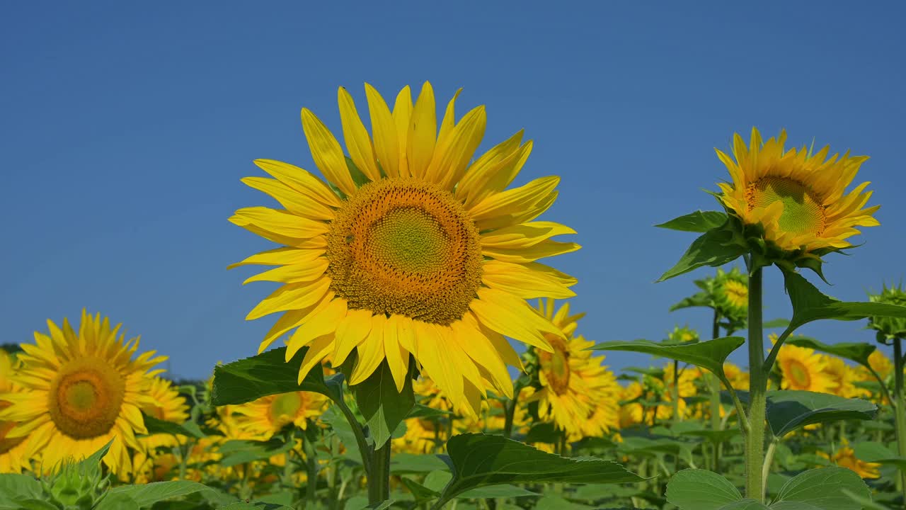
[[[438,132],[430,83],[414,105],[403,88],[392,112],[367,83],[365,92],[371,134],[339,90],[348,157],[302,111],[327,182],[270,160],[255,164],[275,179],[243,180],[285,208],[251,207],[230,218],[283,245],[237,264],[277,266],[246,282],[283,284],[246,319],[284,312],[259,351],[295,329],[286,358],[308,348],[300,380],[321,359],[340,365],[355,349],[350,384],[386,359],[401,391],[411,354],[457,407],[477,412],[487,389],[512,395],[506,364],[518,365],[518,356],[505,335],[544,350],[553,349],[548,338],[562,339],[525,303],[573,296],[576,280],[536,261],[579,248],[551,239],[572,229],[534,221],[554,203],[559,179],[506,189],[532,149],[522,132],[473,160],[484,106],[456,122],[454,96]]]

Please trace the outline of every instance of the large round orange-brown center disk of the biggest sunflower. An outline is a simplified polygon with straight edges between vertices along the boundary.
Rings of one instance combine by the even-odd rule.
[[[362,186],[331,223],[331,289],[351,309],[448,325],[481,284],[474,221],[449,191],[412,179]]]

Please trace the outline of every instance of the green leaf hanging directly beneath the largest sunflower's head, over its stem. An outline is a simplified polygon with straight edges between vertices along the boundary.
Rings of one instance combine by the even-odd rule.
[[[414,363],[410,363],[410,370],[414,366]],[[377,446],[383,446],[390,439],[396,427],[415,406],[410,376],[411,373],[407,374],[402,391],[397,391],[390,366],[385,359],[371,376],[352,387],[355,402],[359,405],[361,415],[368,425],[368,432]]]

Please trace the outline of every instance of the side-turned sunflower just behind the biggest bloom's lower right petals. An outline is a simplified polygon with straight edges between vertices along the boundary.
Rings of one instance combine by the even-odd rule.
[[[530,397],[538,402],[538,416],[554,422],[567,436],[601,436],[619,423],[618,409],[613,397],[615,378],[603,367],[603,356],[593,356],[586,350],[594,344],[573,336],[578,320],[585,314],[570,315],[569,303],[554,309],[554,299],[542,300],[538,311],[561,329],[562,335],[549,335],[552,352],[535,350],[530,357],[535,363],[539,387]],[[612,376],[612,374],[610,374]],[[597,407],[607,407],[604,416],[593,416]]]

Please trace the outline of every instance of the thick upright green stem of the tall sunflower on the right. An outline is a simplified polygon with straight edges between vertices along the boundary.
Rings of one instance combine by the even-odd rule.
[[[748,433],[746,435],[746,497],[764,503],[762,466],[765,459],[767,375],[762,331],[762,269],[748,279]]]

